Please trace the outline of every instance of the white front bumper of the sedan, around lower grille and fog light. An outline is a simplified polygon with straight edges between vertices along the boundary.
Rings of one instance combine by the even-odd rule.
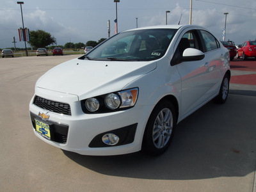
[[[33,104],[35,96],[31,99],[29,110],[33,131],[46,143],[63,150],[92,156],[129,154],[141,150],[143,132],[150,115],[148,111],[151,111],[150,108],[153,106],[134,106],[134,108],[113,113],[85,114],[76,95],[45,90],[44,93],[36,93],[36,95],[46,99],[51,98],[51,100],[64,100],[70,104],[72,111],[72,115],[49,112]],[[49,119],[43,120],[39,113],[47,113]],[[50,125],[51,140],[42,137],[35,130],[35,120]],[[106,133],[113,133],[120,137],[119,143],[114,146],[104,144],[102,136]]]

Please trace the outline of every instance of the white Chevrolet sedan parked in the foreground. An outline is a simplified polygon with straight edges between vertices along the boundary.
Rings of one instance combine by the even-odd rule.
[[[33,132],[84,155],[162,154],[181,120],[212,99],[227,100],[229,62],[200,26],[124,31],[38,79]]]

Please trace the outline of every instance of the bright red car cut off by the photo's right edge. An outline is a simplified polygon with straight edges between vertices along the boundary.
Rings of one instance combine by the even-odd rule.
[[[240,58],[241,56],[243,57],[243,60],[250,57],[255,57],[256,59],[256,41],[244,42],[237,50],[237,58]]]

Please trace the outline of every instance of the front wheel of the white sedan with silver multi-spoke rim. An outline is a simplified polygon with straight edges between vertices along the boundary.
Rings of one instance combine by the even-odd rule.
[[[177,124],[173,104],[163,100],[156,105],[150,117],[143,136],[142,151],[159,156],[169,147]]]

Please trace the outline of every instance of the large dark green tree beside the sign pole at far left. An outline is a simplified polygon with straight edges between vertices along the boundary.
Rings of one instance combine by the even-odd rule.
[[[37,49],[40,47],[47,47],[51,44],[56,44],[54,36],[43,30],[30,31],[30,41],[28,42],[31,47]]]

